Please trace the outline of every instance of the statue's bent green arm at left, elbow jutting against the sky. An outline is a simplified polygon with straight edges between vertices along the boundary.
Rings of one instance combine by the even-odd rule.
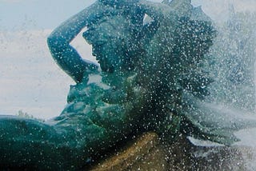
[[[47,43],[54,61],[75,82],[82,82],[82,79],[95,72],[98,66],[84,61],[74,47],[70,46],[70,42],[83,28],[90,26],[102,16],[113,13],[114,10],[110,6],[103,6],[101,2],[95,2],[63,22],[48,37]]]

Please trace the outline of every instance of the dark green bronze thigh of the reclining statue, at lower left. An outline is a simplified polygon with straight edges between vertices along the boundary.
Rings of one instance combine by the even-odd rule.
[[[51,125],[14,116],[0,117],[0,169],[62,169],[72,150]]]

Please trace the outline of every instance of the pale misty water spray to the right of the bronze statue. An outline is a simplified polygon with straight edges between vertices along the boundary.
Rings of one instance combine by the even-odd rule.
[[[246,170],[255,170],[256,13],[235,12],[234,6],[230,6],[228,13],[226,22],[215,22],[218,37],[205,63],[206,72],[214,78],[210,96],[193,103],[196,107],[191,109],[190,117],[213,132],[223,129],[234,131],[240,140],[234,147],[245,147],[242,158]],[[194,137],[189,139],[194,145],[218,146]]]

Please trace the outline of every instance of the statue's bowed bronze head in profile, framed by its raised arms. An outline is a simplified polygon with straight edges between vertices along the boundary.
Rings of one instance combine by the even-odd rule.
[[[122,16],[108,16],[88,26],[83,33],[86,41],[92,45],[93,55],[102,71],[114,72],[130,67],[130,50],[133,43],[131,24]]]

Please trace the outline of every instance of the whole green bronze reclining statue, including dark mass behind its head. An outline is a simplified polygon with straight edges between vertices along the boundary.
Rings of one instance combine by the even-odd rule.
[[[83,28],[100,67],[70,46]],[[1,116],[0,168],[80,169],[145,131],[169,141],[183,133],[230,145],[231,134],[211,133],[187,117],[190,100],[209,94],[212,79],[200,65],[215,34],[190,0],[94,2],[47,40],[55,62],[76,82],[66,108],[46,122]]]

